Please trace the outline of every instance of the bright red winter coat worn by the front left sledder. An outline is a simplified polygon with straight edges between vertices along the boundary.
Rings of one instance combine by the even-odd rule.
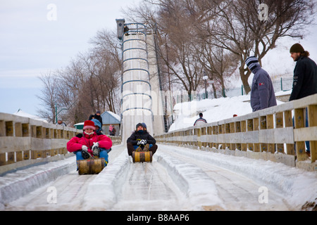
[[[70,139],[67,143],[67,150],[70,153],[76,152],[77,150],[82,150],[82,146],[88,147],[88,152],[92,153],[92,146],[94,142],[99,142],[99,148],[110,149],[112,146],[112,141],[108,136],[102,134],[97,135],[96,132],[92,135],[88,134],[78,134]]]

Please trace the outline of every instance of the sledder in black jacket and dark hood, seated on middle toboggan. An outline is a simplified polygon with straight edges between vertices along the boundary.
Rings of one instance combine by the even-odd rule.
[[[157,150],[156,140],[147,131],[144,131],[144,125],[141,123],[138,123],[136,128],[136,131],[127,140],[128,155],[132,156],[134,151],[148,150],[154,155]]]

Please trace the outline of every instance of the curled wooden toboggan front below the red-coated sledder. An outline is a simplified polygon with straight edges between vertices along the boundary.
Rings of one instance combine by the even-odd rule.
[[[77,160],[78,174],[99,174],[104,169],[104,158]]]

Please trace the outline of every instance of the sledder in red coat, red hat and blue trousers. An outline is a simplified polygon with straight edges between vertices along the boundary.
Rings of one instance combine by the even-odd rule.
[[[111,150],[112,141],[108,136],[98,135],[93,121],[84,122],[82,134],[77,134],[67,143],[67,150],[76,155],[76,160],[89,158],[104,158],[105,167],[108,164],[108,152]]]

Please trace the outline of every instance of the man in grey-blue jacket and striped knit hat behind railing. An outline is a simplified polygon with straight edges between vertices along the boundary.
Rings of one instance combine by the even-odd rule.
[[[261,68],[258,58],[250,56],[245,63],[254,73],[250,97],[253,112],[277,105],[271,77]]]

